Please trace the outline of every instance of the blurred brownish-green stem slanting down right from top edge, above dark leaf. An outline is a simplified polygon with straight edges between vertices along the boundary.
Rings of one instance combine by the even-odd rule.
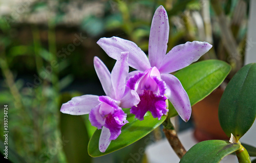
[[[227,19],[222,9],[220,0],[211,0],[210,1],[212,8],[214,9],[218,23],[220,25],[220,30],[222,34],[222,43],[225,49],[228,52],[230,57],[230,65],[232,66],[232,70],[230,72],[231,76],[233,76],[241,67],[242,67],[242,60],[239,57],[238,45],[236,43],[236,39],[234,39],[231,30],[227,24]]]

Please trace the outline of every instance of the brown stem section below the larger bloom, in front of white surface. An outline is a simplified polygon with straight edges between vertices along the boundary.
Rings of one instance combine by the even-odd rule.
[[[170,122],[170,118],[166,118],[166,120],[163,123],[163,126],[164,126],[163,132],[170,146],[172,146],[172,148],[174,149],[178,157],[182,158],[187,151],[181,144],[180,139],[178,138],[177,132],[175,131],[175,128],[172,122]]]

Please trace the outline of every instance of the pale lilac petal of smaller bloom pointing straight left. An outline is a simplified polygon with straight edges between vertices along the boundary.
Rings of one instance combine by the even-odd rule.
[[[95,95],[73,97],[70,101],[62,104],[60,112],[70,115],[89,114],[92,108],[100,103],[98,98]]]

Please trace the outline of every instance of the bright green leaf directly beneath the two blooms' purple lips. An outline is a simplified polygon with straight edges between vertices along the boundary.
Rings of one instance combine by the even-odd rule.
[[[130,114],[130,109],[125,109],[124,112],[127,114],[127,120],[129,123],[122,127],[122,132],[119,137],[110,143],[110,146],[104,153],[99,151],[99,137],[101,130],[96,130],[94,132],[88,145],[88,153],[90,156],[99,157],[129,146],[130,144],[145,137],[145,135],[157,128],[166,119],[165,116],[162,116],[162,119],[158,120],[157,118],[153,118],[151,113],[147,112],[144,116],[144,120],[139,121],[135,119],[135,115]]]

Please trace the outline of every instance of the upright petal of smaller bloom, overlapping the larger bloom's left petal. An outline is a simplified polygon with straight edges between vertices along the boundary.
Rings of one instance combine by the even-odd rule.
[[[127,63],[129,52],[122,52],[121,56],[116,61],[116,64],[111,72],[112,86],[115,91],[115,100],[120,100],[125,91],[125,79],[129,73]]]

